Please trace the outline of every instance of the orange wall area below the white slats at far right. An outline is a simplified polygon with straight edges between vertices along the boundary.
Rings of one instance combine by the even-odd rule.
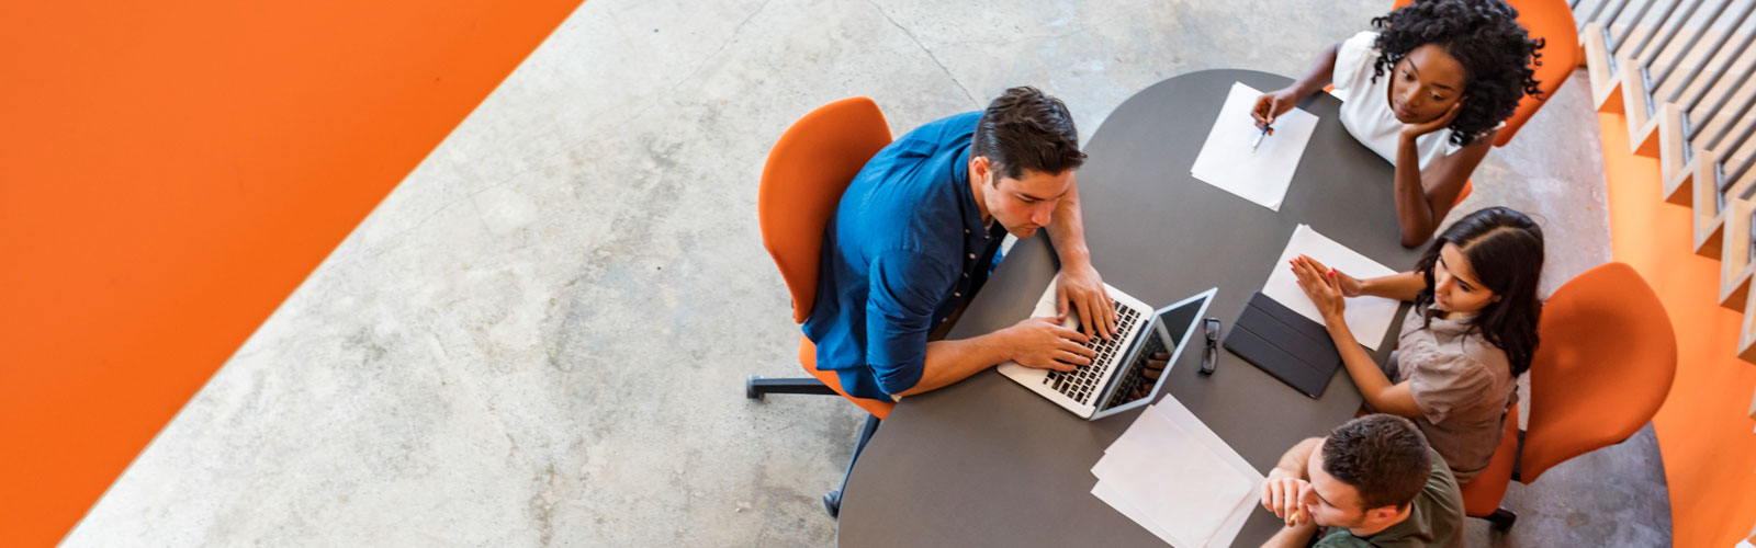
[[[1677,381],[1652,418],[1675,546],[1733,546],[1756,522],[1756,365],[1737,358],[1744,314],[1719,307],[1719,260],[1689,249],[1693,211],[1659,197],[1659,165],[1628,153],[1623,114],[1598,114],[1616,260],[1652,285],[1677,330]],[[1605,478],[1614,481],[1614,478]]]

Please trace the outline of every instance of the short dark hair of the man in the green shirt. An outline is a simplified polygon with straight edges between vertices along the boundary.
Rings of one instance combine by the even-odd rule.
[[[1322,443],[1322,471],[1359,490],[1361,509],[1403,508],[1433,474],[1426,436],[1394,415],[1350,420]]]

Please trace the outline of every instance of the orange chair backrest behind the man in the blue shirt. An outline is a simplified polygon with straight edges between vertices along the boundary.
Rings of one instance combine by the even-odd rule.
[[[757,190],[762,246],[792,292],[792,320],[804,323],[817,297],[824,227],[853,176],[890,144],[890,125],[871,98],[843,98],[799,118],[769,151]]]

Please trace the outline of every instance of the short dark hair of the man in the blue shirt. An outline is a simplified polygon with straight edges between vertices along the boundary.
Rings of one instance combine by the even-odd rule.
[[[976,121],[969,156],[987,156],[996,174],[1011,179],[1026,170],[1061,174],[1085,163],[1068,105],[1031,86],[1006,90],[989,104]]]

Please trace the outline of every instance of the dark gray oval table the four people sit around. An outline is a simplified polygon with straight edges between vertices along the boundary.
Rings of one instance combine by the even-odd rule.
[[[1080,197],[1085,239],[1105,281],[1148,306],[1217,286],[1208,316],[1229,328],[1270,270],[1282,267],[1275,262],[1299,223],[1391,269],[1410,269],[1417,251],[1398,244],[1391,165],[1342,128],[1340,102],[1328,93],[1301,104],[1321,121],[1278,213],[1189,176],[1234,81],[1264,91],[1289,83],[1254,70],[1177,76],[1131,97],[1092,135]],[[950,337],[1029,316],[1054,274],[1047,237],[1020,241]],[[1166,392],[1261,472],[1361,404],[1347,371],[1322,399],[1224,350],[1217,371],[1198,376],[1198,341],[1171,367]],[[1382,362],[1389,350],[1380,344],[1373,357]],[[1085,422],[992,369],[906,397],[848,480],[839,544],[1166,546],[1090,495],[1092,464],[1138,413]],[[1277,529],[1275,516],[1257,508],[1234,546],[1257,546]]]

